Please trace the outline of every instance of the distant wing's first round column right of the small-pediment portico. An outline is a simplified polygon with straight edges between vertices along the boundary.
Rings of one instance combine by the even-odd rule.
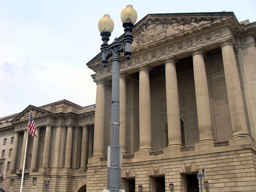
[[[73,126],[68,125],[66,155],[65,155],[65,168],[71,168],[72,134],[73,134]]]

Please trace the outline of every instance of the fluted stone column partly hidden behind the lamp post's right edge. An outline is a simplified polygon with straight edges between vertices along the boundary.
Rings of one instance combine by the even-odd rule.
[[[122,147],[122,154],[126,154],[126,73],[121,72],[120,73],[120,116],[119,119],[120,121],[124,121],[123,123],[120,124],[120,146]]]

